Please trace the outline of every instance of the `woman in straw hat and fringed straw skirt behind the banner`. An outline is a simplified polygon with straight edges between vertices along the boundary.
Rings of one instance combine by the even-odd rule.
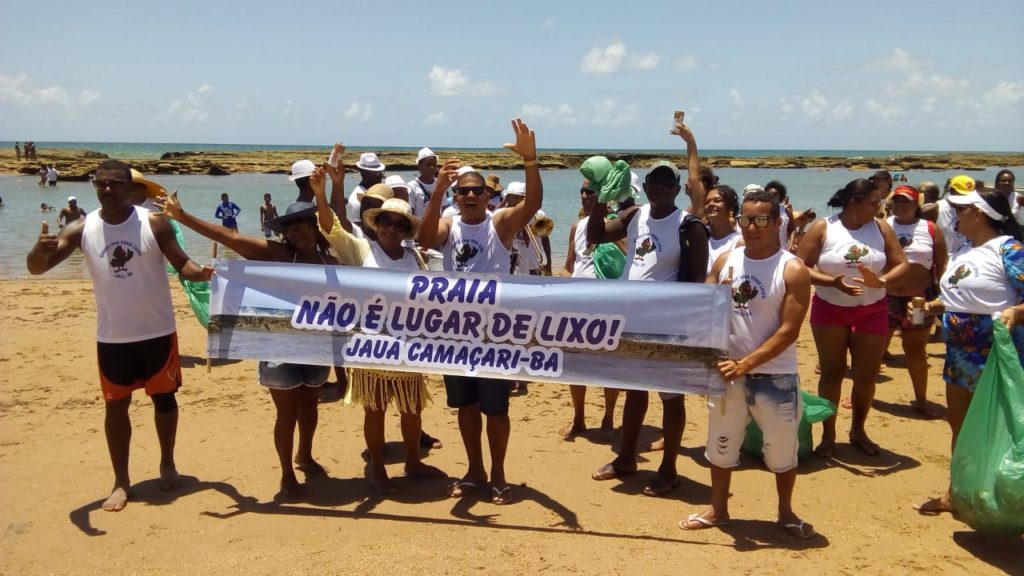
[[[345,233],[328,202],[326,179],[324,169],[317,168],[309,183],[316,196],[321,229],[328,241],[334,245],[335,241],[340,240]],[[340,210],[339,213],[344,214]],[[403,244],[407,240],[415,239],[420,232],[420,218],[413,215],[413,208],[409,202],[389,198],[379,208],[370,208],[362,212],[361,220],[362,225],[371,233],[370,237],[374,238],[367,240],[369,250],[362,256],[364,268],[426,270],[416,249]],[[337,250],[340,253],[344,247],[339,245]],[[353,368],[348,370],[348,393],[353,402],[362,405],[362,435],[373,467],[371,484],[377,492],[381,494],[395,492],[395,487],[384,466],[384,413],[392,403],[398,409],[401,419],[401,438],[406,445],[406,476],[446,478],[440,469],[420,460],[420,439],[423,429],[420,414],[424,405],[430,400],[426,376],[423,373]]]

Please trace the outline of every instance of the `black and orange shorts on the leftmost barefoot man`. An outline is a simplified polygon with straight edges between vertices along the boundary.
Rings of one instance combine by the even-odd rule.
[[[103,400],[115,402],[145,388],[145,394],[170,394],[181,387],[181,360],[176,332],[137,342],[96,342],[99,387]]]

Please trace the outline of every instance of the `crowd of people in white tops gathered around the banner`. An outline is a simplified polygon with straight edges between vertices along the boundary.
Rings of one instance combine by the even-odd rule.
[[[168,489],[178,483],[175,392],[181,372],[164,258],[188,280],[209,280],[212,270],[188,258],[174,240],[173,225],[187,227],[256,260],[413,271],[426,270],[423,251],[432,249],[440,252],[449,272],[550,274],[550,246],[545,249],[535,234],[545,196],[536,136],[521,120],[514,120],[512,128],[515,139],[506,148],[521,158],[524,177],[505,187],[497,176],[484,176],[458,159],[441,161],[424,148],[417,158],[418,174],[408,182],[386,178],[377,155],[361,154],[355,163],[359,182],[346,198],[343,147],[336,147],[336,162],[299,160],[289,176],[297,199],[285,213],[279,214],[270,196],[264,196],[263,237],[239,233],[234,216],[240,210],[227,195],[216,212],[223,225],[186,211],[176,194],[160,197],[159,212],[142,208],[146,196],[160,196],[144,194],[157,184],[127,164],[102,162],[93,179],[100,208],[81,218],[75,212],[59,235],[50,234],[44,222],[27,262],[32,274],[42,274],[81,249],[92,273],[105,434],[115,471],[103,508],[121,509],[130,495],[128,405],[134,389],[144,388],[153,398],[161,480]],[[730,287],[728,356],[717,365],[725,390],[708,403],[706,456],[712,501],[679,527],[699,530],[729,521],[731,472],[739,463],[746,422],[753,419],[764,435],[765,464],[775,476],[779,526],[795,537],[814,537],[814,528],[794,509],[803,410],[796,340],[805,319],[810,317],[820,363],[818,395],[839,404],[847,369],[852,373],[849,445],[868,456],[882,451],[868,434],[868,416],[883,357],[896,333],[907,356],[913,406],[924,415],[936,415],[927,400],[924,347],[933,319],[940,319],[946,344],[947,417],[955,442],[991,346],[992,323],[1006,323],[1024,354],[1024,238],[1018,220],[1024,215],[1024,198],[1009,170],[999,172],[993,189],[956,176],[947,182],[944,198],[930,182],[892,190],[893,178],[883,171],[837,191],[828,204],[838,211],[816,219],[813,211],[793,209],[782,182],[746,186],[741,194],[719,183],[701,166],[695,137],[681,119],[672,133],[686,148],[682,170],[666,161],[643,177],[627,167],[614,177],[582,181],[581,219],[570,228],[561,274]],[[452,203],[445,206],[449,193]],[[68,209],[74,212],[73,200]],[[258,381],[269,389],[276,409],[273,443],[286,497],[305,496],[295,469],[324,474],[313,455],[313,441],[318,388],[330,371],[288,363],[258,365]],[[424,374],[338,372],[352,402],[364,409],[375,490],[395,490],[383,458],[389,406],[399,413],[404,474],[445,476],[420,459],[420,446],[429,438],[421,416],[430,398]],[[447,494],[461,498],[486,491],[494,504],[514,501],[505,469],[512,444],[509,382],[452,375],[443,380],[467,458],[467,468],[450,481]],[[573,415],[561,430],[565,439],[587,428],[586,392],[571,386]],[[610,437],[620,395],[613,389],[604,395],[601,429]],[[638,471],[639,433],[649,393],[628,390],[625,397],[620,449],[592,474],[596,481]],[[679,484],[676,459],[686,422],[682,394],[659,393],[659,399],[663,438],[656,448],[663,454],[643,490],[650,497],[665,496]],[[840,449],[838,419],[824,422],[814,450],[818,457],[831,458]],[[946,493],[920,509],[952,511],[953,504]]]

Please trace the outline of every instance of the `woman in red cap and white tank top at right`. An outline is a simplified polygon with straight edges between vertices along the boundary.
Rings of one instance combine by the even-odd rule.
[[[910,273],[886,286],[889,300],[889,338],[899,329],[906,369],[913,384],[913,409],[928,418],[939,413],[928,406],[928,356],[925,346],[931,333],[932,322],[915,326],[910,321],[908,306],[914,297],[926,300],[937,295],[936,280],[946,268],[946,244],[934,222],[921,217],[919,193],[908,186],[901,186],[892,194],[892,215],[886,223],[892,227],[910,262]],[[888,349],[888,345],[886,348]]]

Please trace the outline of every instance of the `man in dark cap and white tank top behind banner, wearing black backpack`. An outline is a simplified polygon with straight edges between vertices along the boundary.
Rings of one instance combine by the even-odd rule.
[[[696,141],[681,120],[676,122],[672,133],[686,142],[690,210],[693,216],[701,218],[706,191],[700,181],[700,157]],[[643,189],[648,203],[624,210],[620,217],[611,220],[605,219],[607,205],[598,203],[587,221],[588,242],[600,244],[626,238],[626,271],[623,275],[629,280],[702,282],[708,272],[708,229],[700,222],[685,229],[682,227],[689,214],[676,206],[676,197],[682,190],[679,170],[669,162],[658,163],[647,173]],[[682,245],[684,242],[685,246]],[[680,274],[686,278],[681,279]],[[666,302],[666,305],[672,304],[676,302]],[[679,484],[676,457],[686,425],[686,405],[682,394],[662,394],[660,397],[665,448],[657,476],[643,490],[646,496],[664,496]],[[647,403],[646,390],[626,392],[618,455],[598,468],[591,478],[611,480],[636,471],[637,442],[647,414]]]

